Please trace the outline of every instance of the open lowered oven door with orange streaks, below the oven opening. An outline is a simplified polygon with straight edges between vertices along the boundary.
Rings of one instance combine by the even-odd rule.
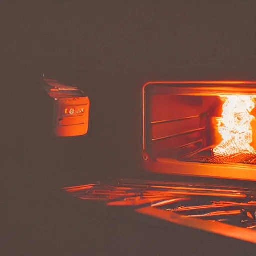
[[[63,189],[83,200],[95,200],[166,223],[256,243],[256,190],[253,188],[122,179]]]

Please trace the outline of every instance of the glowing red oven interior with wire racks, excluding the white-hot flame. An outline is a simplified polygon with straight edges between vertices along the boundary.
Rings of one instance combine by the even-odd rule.
[[[254,93],[256,95],[254,88],[242,86],[149,86],[146,90],[147,151],[153,158],[175,159],[180,162],[254,165]],[[226,95],[247,95],[253,100],[253,106],[245,109],[245,114],[249,112],[251,118],[251,151],[240,150],[231,154],[227,148],[227,153],[214,153],[214,148],[223,141],[217,122],[223,114],[223,96]],[[243,131],[239,132],[239,136],[244,134]]]

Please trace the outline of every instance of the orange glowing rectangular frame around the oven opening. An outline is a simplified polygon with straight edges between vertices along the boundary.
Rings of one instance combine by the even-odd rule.
[[[196,176],[196,177],[210,177],[223,179],[238,179],[256,181],[256,166],[245,164],[210,164],[210,163],[194,163],[194,162],[180,162],[178,160],[170,160],[168,158],[156,158],[152,155],[150,147],[151,142],[151,124],[148,116],[150,116],[149,97],[150,89],[154,85],[164,86],[221,86],[223,91],[226,87],[233,86],[235,90],[242,89],[246,94],[256,93],[256,81],[152,81],[147,82],[142,87],[142,122],[143,122],[143,145],[142,145],[142,166],[149,172],[160,174],[172,174],[182,176]]]

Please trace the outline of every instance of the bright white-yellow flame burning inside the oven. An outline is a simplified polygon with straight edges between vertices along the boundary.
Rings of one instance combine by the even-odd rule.
[[[214,155],[232,155],[237,153],[256,153],[250,145],[252,142],[250,115],[255,107],[253,99],[249,95],[221,96],[224,101],[221,117],[217,117],[218,132],[223,140],[214,149]]]

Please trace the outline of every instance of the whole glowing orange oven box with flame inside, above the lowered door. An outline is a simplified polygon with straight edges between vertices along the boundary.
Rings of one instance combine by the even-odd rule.
[[[143,86],[143,166],[150,172],[256,180],[256,82]]]

